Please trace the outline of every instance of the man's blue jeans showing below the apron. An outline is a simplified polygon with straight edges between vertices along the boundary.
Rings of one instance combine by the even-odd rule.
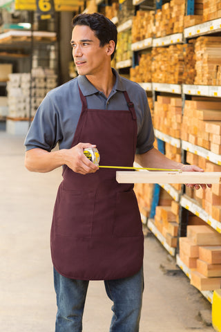
[[[81,332],[88,281],[68,279],[54,268],[57,294],[55,332]],[[144,290],[143,268],[124,279],[104,281],[106,293],[113,301],[110,332],[138,332]]]

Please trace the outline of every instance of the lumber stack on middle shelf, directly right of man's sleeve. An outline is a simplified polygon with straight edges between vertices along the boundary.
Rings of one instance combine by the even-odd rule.
[[[154,106],[153,127],[174,138],[180,138],[182,99],[157,96]]]

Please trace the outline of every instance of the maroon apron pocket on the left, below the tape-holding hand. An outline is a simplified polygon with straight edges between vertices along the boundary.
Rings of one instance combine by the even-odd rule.
[[[94,192],[75,192],[59,188],[54,210],[55,232],[64,237],[91,237]]]

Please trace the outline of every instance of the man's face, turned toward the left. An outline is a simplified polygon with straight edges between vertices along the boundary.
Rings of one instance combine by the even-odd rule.
[[[75,26],[70,44],[79,75],[96,75],[103,71],[105,60],[108,59],[108,46],[99,46],[99,39],[93,30],[88,26]]]

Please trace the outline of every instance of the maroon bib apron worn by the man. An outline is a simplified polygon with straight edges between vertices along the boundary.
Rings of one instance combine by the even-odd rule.
[[[97,145],[99,165],[133,166],[137,120],[128,109],[82,109],[72,147]],[[51,252],[55,269],[64,277],[107,280],[129,277],[142,267],[144,236],[133,184],[119,184],[116,169],[78,174],[66,165],[52,219]]]

